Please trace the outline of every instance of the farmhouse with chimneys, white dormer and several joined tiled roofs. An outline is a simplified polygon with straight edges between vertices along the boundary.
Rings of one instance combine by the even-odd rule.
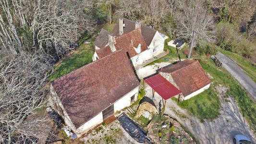
[[[112,33],[101,29],[95,41],[93,61],[99,60],[112,52],[125,49],[134,68],[163,53],[167,36],[157,30],[127,19],[119,19]]]

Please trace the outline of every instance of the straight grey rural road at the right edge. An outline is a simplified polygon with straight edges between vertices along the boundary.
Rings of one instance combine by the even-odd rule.
[[[226,55],[218,52],[216,54],[217,59],[222,62],[222,66],[227,69],[228,72],[232,74],[232,76],[238,80],[238,82],[246,89],[246,91],[256,99],[256,84],[254,81],[247,76],[243,70],[230,58]]]

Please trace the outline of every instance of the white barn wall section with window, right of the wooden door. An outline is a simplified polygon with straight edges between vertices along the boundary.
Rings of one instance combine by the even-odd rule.
[[[138,92],[139,92],[139,86],[137,86],[131,92],[129,92],[128,94],[123,96],[121,99],[116,101],[114,103],[114,111],[116,112],[116,111],[121,110],[125,107],[129,107],[131,105],[131,97],[135,95],[134,96],[134,101],[136,101],[137,98],[138,98]]]

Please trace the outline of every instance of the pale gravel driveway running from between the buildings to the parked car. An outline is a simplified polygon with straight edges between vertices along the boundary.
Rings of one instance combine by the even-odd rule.
[[[162,63],[162,65],[168,65],[168,63]],[[142,68],[138,70],[137,74],[140,78],[146,77],[156,72],[156,67],[159,64],[152,65],[150,67]],[[154,70],[150,71],[150,68]],[[147,84],[145,85],[146,96],[152,98],[152,88]],[[219,118],[213,121],[200,122],[195,116],[188,113],[187,110],[180,108],[177,103],[171,99],[167,100],[165,113],[178,120],[189,132],[193,134],[196,140],[200,144],[232,144],[232,138],[235,134],[244,134],[250,137],[256,142],[254,133],[249,128],[242,114],[239,112],[239,108],[235,103],[232,96],[224,98],[226,89],[222,85],[216,87],[219,99],[221,101]],[[158,95],[156,93],[156,95]],[[161,104],[161,98],[156,96],[154,103],[159,108],[158,104]]]

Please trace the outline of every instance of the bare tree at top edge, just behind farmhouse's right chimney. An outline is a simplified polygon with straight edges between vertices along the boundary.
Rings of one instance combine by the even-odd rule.
[[[142,9],[146,22],[153,27],[159,24],[165,13],[168,12],[164,0],[144,0],[142,1]]]

